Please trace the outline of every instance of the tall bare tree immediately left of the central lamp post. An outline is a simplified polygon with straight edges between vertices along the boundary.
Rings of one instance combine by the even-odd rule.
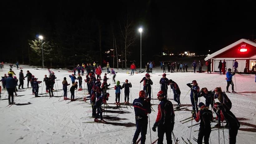
[[[119,23],[121,34],[123,37],[123,43],[124,43],[124,55],[125,55],[125,69],[127,70],[126,62],[127,62],[127,54],[126,49],[128,49],[130,46],[133,45],[135,42],[135,35],[134,35],[134,29],[133,29],[133,23],[129,21],[129,18],[127,16],[127,19],[123,22],[123,26],[121,26],[121,23]]]

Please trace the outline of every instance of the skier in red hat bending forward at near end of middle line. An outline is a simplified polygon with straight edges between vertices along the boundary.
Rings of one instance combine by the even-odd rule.
[[[97,98],[96,102],[95,102],[95,108],[97,108],[97,113],[95,115],[95,119],[94,122],[103,122],[106,123],[106,121],[103,120],[102,117],[102,108],[101,105],[103,103],[106,103],[107,100],[109,100],[109,93],[105,93],[99,96],[99,98]],[[100,116],[100,120],[98,120],[97,118]]]

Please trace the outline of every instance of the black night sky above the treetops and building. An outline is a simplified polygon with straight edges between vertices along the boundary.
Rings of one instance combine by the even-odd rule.
[[[113,44],[111,24],[122,21],[127,14],[136,34],[134,50],[140,47],[138,28],[142,27],[142,52],[150,56],[168,50],[170,53],[189,50],[206,54],[208,50],[217,51],[242,38],[256,39],[253,37],[253,30],[256,35],[253,0],[10,1],[2,3],[1,9],[3,59],[6,59],[4,50],[11,50],[14,53],[11,56],[18,57],[26,53],[21,50],[27,49],[27,40],[37,39],[36,35],[51,39],[51,33],[61,24],[72,33],[79,27],[78,20],[94,21],[86,26],[92,37],[96,37],[95,21],[100,22],[102,48],[108,50]],[[118,33],[118,24],[114,31]]]

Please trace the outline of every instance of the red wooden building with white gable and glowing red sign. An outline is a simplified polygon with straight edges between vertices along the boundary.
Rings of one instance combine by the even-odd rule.
[[[256,43],[241,39],[205,58],[205,60],[208,59],[212,61],[212,71],[219,71],[219,62],[220,60],[223,62],[225,59],[227,69],[231,68],[233,70],[234,60],[236,60],[238,62],[238,72],[244,72],[245,68],[247,72],[251,72],[256,63]]]

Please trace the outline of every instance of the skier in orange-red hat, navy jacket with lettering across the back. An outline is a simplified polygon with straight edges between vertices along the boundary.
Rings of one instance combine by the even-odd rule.
[[[145,144],[147,134],[147,114],[151,113],[151,103],[148,98],[145,99],[145,92],[139,92],[139,98],[133,100],[133,107],[136,120],[136,131],[132,143],[135,144],[141,133],[141,144]]]

